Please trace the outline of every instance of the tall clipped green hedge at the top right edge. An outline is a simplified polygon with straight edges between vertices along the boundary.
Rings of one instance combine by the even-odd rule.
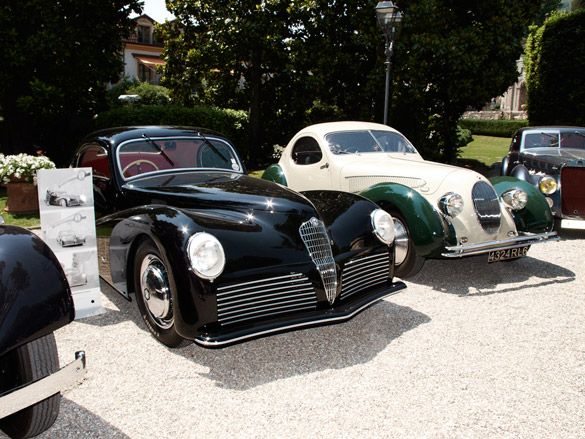
[[[533,28],[525,53],[530,123],[585,125],[585,10]]]

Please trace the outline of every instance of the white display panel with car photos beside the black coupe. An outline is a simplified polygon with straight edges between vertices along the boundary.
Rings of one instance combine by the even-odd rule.
[[[42,238],[63,267],[75,319],[104,312],[101,302],[91,168],[37,172]]]

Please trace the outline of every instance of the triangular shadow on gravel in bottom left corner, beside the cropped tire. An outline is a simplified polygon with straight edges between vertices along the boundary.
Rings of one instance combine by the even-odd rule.
[[[4,437],[7,436],[0,432],[0,438]],[[38,439],[77,439],[82,437],[127,439],[130,436],[108,424],[99,416],[87,411],[82,406],[69,401],[67,398],[62,398],[57,421],[46,432],[36,437]]]

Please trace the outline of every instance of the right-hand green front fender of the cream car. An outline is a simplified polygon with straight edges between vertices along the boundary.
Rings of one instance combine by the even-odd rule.
[[[528,195],[528,203],[521,210],[513,210],[512,216],[520,232],[545,233],[554,226],[553,214],[545,196],[531,183],[515,177],[494,177],[490,179],[499,197],[510,189],[522,189]]]

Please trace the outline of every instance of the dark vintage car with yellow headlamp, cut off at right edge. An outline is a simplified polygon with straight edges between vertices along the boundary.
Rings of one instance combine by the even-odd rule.
[[[512,137],[501,174],[537,186],[562,228],[585,229],[585,128],[521,128]]]

